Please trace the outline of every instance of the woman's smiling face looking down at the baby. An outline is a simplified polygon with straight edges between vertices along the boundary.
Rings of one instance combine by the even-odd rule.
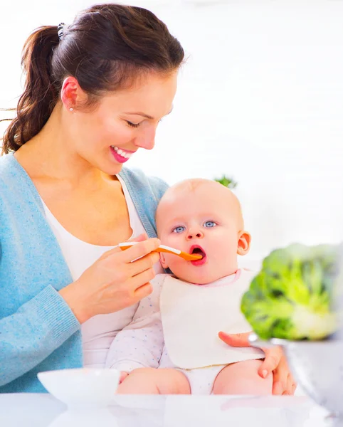
[[[168,115],[176,93],[177,72],[149,73],[131,89],[110,92],[91,112],[70,112],[73,151],[102,172],[120,172],[137,149],[152,149],[159,121]]]

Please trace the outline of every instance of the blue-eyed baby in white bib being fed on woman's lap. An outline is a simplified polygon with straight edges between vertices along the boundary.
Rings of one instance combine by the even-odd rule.
[[[190,179],[172,186],[157,208],[162,243],[203,258],[161,253],[152,295],[117,334],[106,367],[119,369],[121,394],[272,394],[272,374],[258,368],[262,350],[229,347],[218,332],[248,332],[240,305],[253,273],[238,269],[250,234],[241,205],[222,184]]]

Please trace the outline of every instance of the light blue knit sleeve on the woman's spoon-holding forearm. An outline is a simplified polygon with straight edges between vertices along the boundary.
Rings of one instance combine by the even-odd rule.
[[[0,319],[0,386],[43,362],[80,329],[63,297],[47,286],[13,315]]]

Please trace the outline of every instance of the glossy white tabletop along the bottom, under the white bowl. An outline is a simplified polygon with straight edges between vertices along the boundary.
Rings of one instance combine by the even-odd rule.
[[[304,396],[115,396],[67,410],[49,394],[0,394],[1,427],[336,427],[328,415]]]

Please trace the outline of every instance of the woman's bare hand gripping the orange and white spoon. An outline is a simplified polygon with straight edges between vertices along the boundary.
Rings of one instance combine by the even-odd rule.
[[[149,280],[159,260],[159,253],[152,251],[161,242],[146,235],[133,240],[139,243],[125,251],[117,246],[105,252],[78,280],[60,290],[80,323],[130,307],[152,292]]]

